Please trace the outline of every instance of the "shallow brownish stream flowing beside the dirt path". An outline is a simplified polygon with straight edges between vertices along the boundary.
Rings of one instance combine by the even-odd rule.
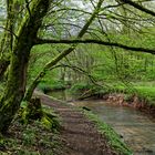
[[[52,93],[66,100],[64,93]],[[155,118],[130,107],[112,105],[103,100],[73,102],[86,106],[101,120],[110,124],[122,140],[133,149],[134,155],[155,155]]]

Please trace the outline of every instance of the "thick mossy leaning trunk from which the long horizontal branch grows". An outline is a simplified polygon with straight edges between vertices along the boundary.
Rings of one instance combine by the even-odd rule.
[[[14,42],[8,82],[0,103],[0,132],[4,133],[25,92],[27,68],[30,50],[33,46],[37,33],[49,8],[49,0],[35,0],[21,22],[18,39]]]

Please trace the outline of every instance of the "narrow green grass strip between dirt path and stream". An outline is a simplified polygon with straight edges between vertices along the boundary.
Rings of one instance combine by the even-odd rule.
[[[97,130],[107,138],[108,145],[114,148],[118,155],[133,155],[131,148],[128,148],[128,146],[121,140],[121,136],[116,134],[110,125],[100,121],[100,118],[92,112],[84,111],[84,114],[95,123]]]

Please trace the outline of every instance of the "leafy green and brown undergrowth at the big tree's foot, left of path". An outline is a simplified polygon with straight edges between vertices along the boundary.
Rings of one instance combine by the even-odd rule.
[[[49,106],[43,108],[51,113]],[[58,128],[45,127],[39,120],[22,124],[17,116],[8,134],[0,137],[0,155],[55,155],[61,147]]]

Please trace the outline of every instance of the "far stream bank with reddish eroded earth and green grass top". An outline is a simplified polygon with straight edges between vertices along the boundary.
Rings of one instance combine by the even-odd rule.
[[[126,87],[125,85],[115,85],[112,87],[102,87],[94,84],[74,84],[70,89],[63,90],[61,95],[63,100],[104,100],[118,106],[128,106],[143,111],[155,117],[155,89],[151,83],[147,85],[135,83]],[[51,91],[53,95],[54,91]],[[56,93],[54,93],[55,95]],[[60,96],[58,96],[60,97]],[[69,97],[69,99],[68,99]]]

